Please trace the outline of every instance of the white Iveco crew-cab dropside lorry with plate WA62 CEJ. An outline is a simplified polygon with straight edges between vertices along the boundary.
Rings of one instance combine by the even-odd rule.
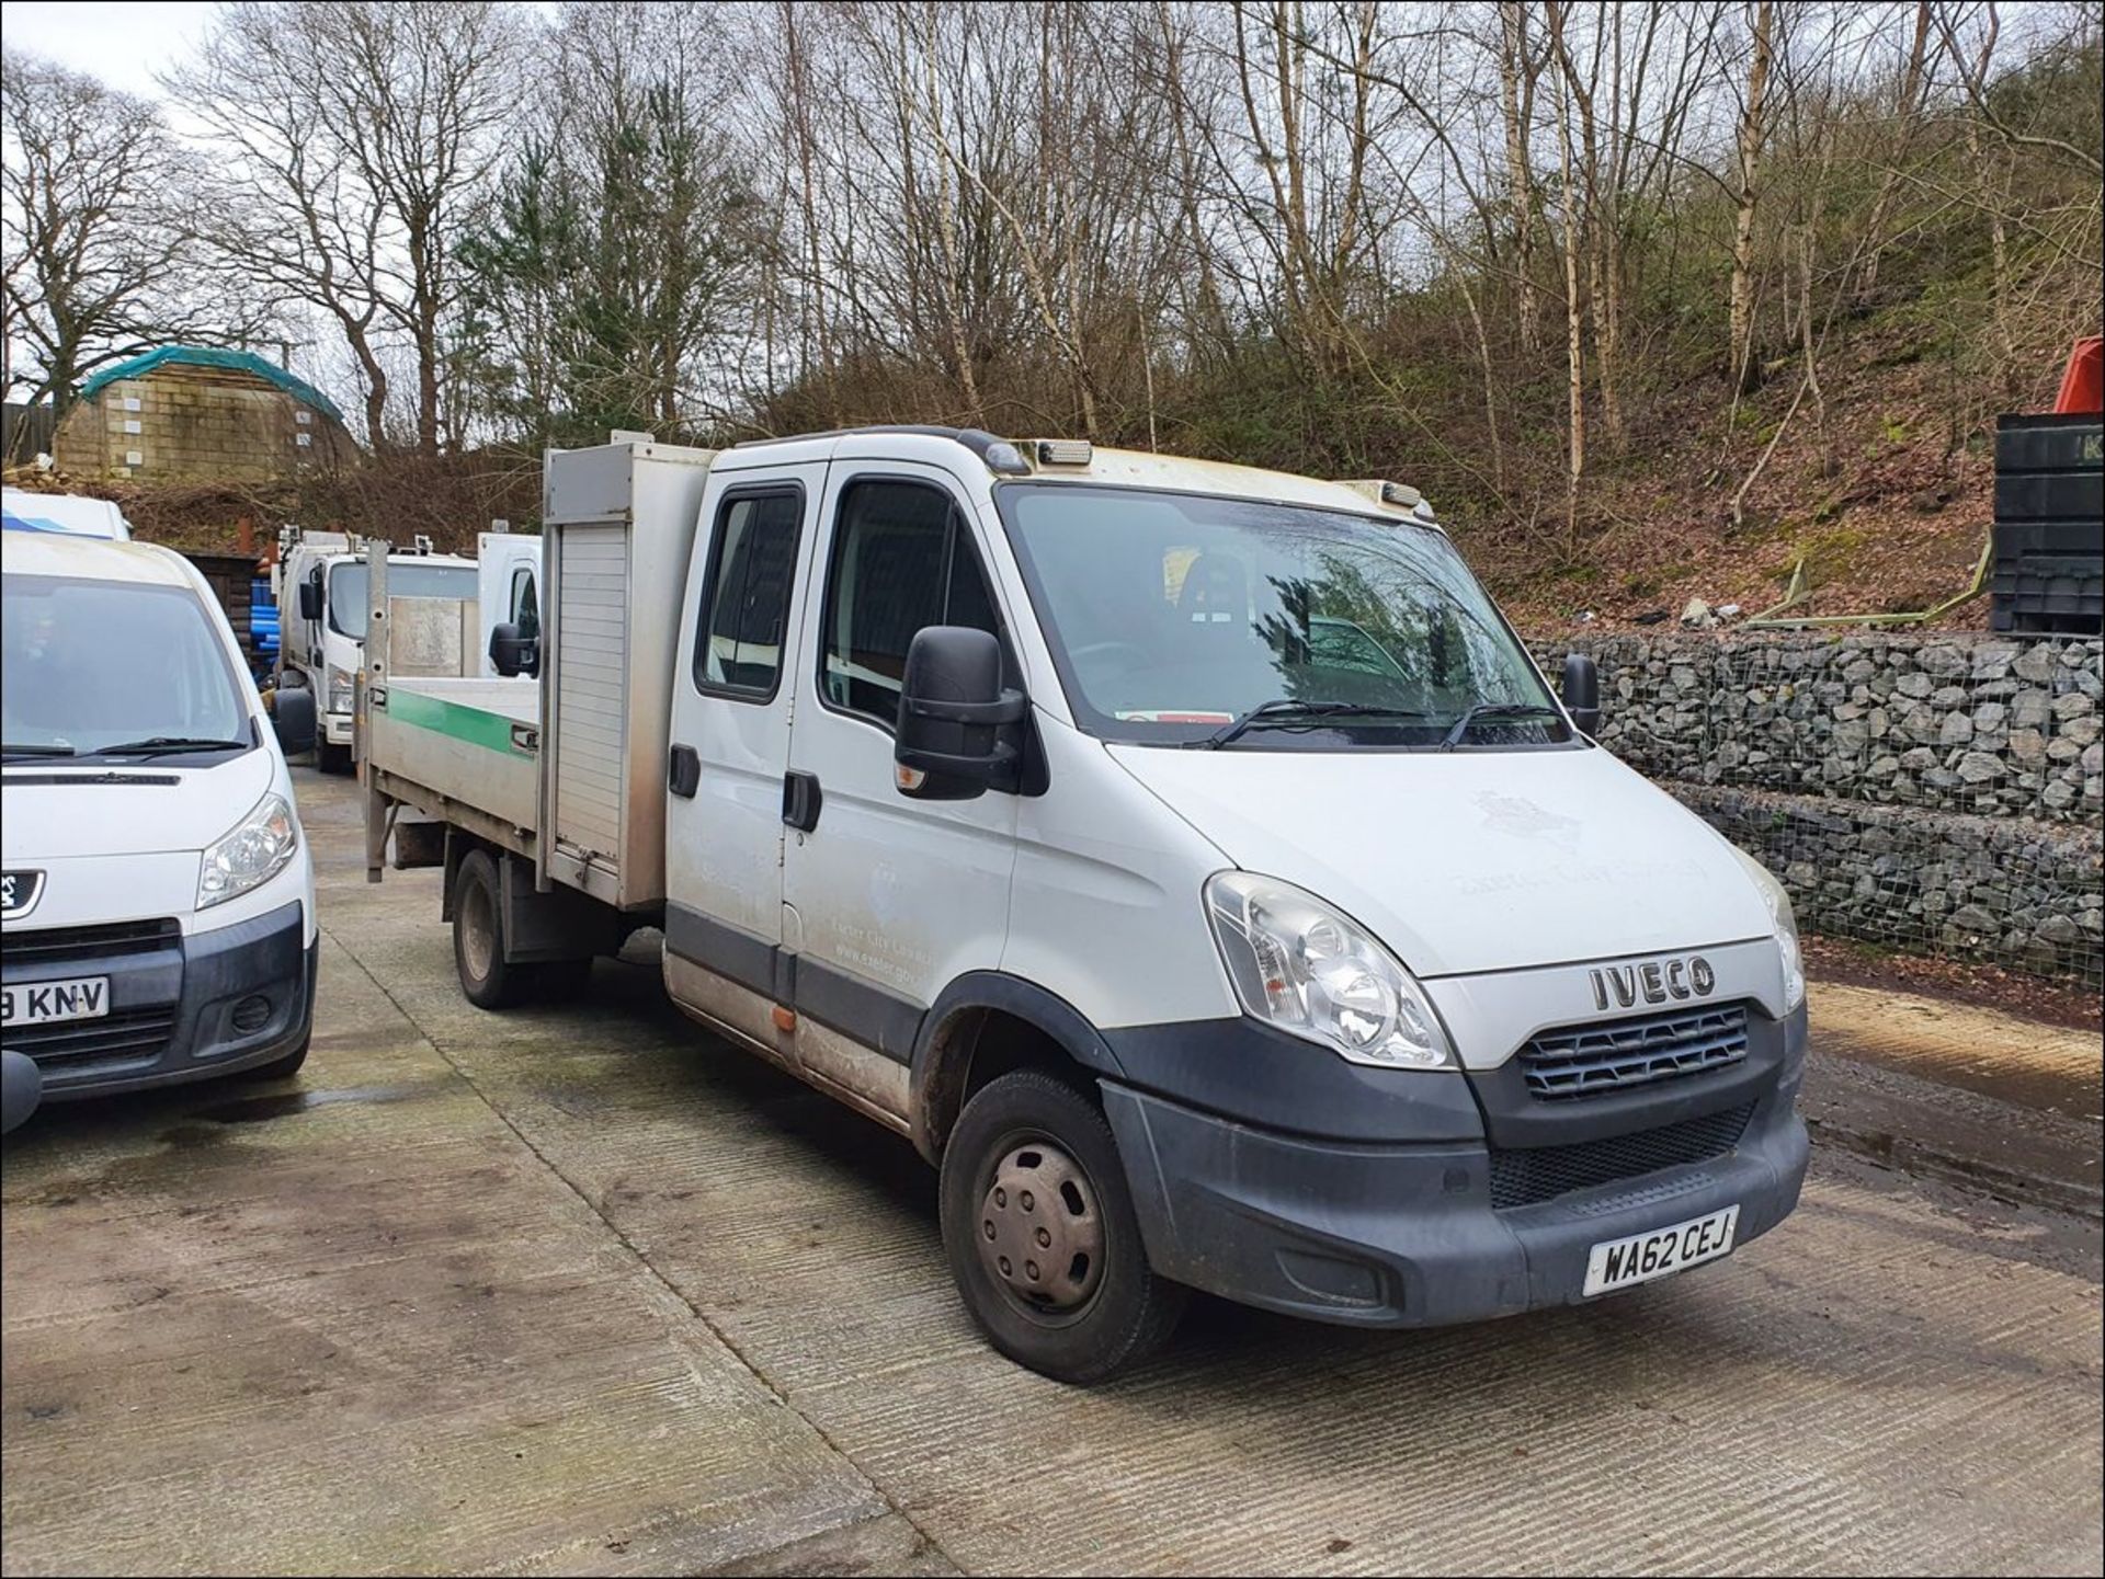
[[[1798,1201],[1789,902],[1412,488],[859,429],[552,452],[543,505],[522,677],[368,654],[368,877],[444,866],[488,1009],[661,927],[690,1018],[941,1169],[1023,1365],[1187,1289],[1593,1299]]]

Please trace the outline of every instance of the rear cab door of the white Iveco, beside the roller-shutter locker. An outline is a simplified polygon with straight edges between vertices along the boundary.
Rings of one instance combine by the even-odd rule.
[[[825,463],[711,479],[671,677],[665,988],[781,1062],[789,658],[823,488]]]

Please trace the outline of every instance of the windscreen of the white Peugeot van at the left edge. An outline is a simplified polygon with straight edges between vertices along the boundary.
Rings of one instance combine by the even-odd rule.
[[[187,587],[8,574],[0,606],[8,757],[253,742],[225,643]]]

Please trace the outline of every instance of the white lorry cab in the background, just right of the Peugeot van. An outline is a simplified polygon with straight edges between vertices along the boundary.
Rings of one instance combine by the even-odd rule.
[[[450,553],[398,549],[389,555],[389,587],[394,597],[444,599],[469,610],[478,603],[476,561]],[[347,772],[370,616],[362,545],[343,532],[309,532],[286,542],[278,610],[280,685],[314,694],[316,761],[322,772]],[[463,673],[459,654],[450,664],[453,673]],[[465,673],[476,673],[474,654]]]

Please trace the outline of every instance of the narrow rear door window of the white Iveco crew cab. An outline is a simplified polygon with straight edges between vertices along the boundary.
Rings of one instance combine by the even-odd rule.
[[[781,679],[804,496],[737,494],[716,515],[695,685],[766,700]]]

